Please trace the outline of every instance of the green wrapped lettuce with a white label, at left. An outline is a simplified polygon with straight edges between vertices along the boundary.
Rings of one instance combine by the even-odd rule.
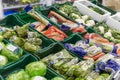
[[[7,44],[2,49],[1,54],[6,56],[8,60],[15,61],[22,56],[23,50],[15,45]]]

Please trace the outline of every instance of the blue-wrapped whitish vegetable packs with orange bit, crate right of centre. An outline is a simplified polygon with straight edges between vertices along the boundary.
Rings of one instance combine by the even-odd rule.
[[[78,41],[75,44],[65,43],[65,47],[85,59],[93,58],[97,60],[99,57],[105,55],[102,47],[96,46],[96,44],[91,45],[91,43],[86,43],[85,41]]]

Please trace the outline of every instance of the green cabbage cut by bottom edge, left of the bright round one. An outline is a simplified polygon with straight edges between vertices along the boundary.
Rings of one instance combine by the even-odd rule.
[[[29,75],[22,69],[7,76],[6,80],[30,80]]]

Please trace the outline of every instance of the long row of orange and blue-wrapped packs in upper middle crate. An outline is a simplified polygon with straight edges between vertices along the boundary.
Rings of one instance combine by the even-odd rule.
[[[63,31],[71,30],[72,32],[86,32],[83,25],[68,20],[53,10],[50,10],[48,15],[45,16],[54,23],[59,24],[61,26],[61,30]]]

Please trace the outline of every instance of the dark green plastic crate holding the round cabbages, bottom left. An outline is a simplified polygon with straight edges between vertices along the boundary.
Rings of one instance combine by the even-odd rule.
[[[34,57],[33,55],[28,54],[28,55],[24,56],[22,59],[20,59],[16,64],[5,67],[4,69],[0,69],[0,74],[4,78],[3,80],[5,80],[5,77],[7,77],[9,74],[11,74],[11,72],[17,71],[19,69],[24,69],[27,64],[34,62],[34,61],[38,61],[38,59],[36,57]],[[47,73],[46,73],[45,77],[48,80],[50,80],[56,76],[60,77],[59,74],[56,74],[54,71],[47,68]]]

